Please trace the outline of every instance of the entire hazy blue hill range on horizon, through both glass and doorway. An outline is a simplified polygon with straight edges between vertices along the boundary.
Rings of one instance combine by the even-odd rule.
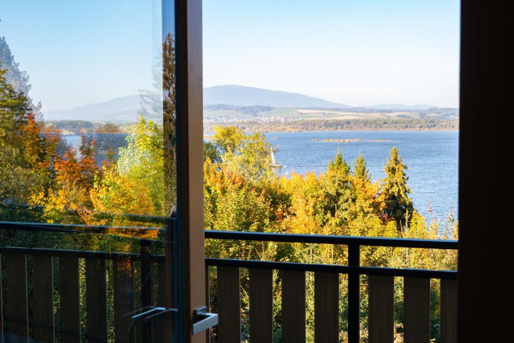
[[[277,110],[273,110],[277,109]],[[279,111],[278,109],[283,109]],[[295,109],[337,109],[338,111],[373,113],[381,112],[434,112],[447,115],[456,109],[438,109],[433,105],[380,104],[353,107],[299,93],[270,91],[269,89],[238,85],[223,85],[204,88],[204,111],[206,117],[250,118],[255,116],[291,116],[303,110]],[[218,110],[218,111],[216,111]],[[225,110],[225,112],[220,111]],[[377,110],[377,111],[374,111]],[[229,111],[229,112],[227,112]],[[131,122],[142,112],[141,96],[130,95],[109,101],[89,104],[69,110],[44,111],[46,120],[91,120]],[[286,113],[287,112],[287,113]],[[290,113],[289,113],[290,112]],[[305,112],[305,111],[303,111]],[[303,113],[302,112],[302,113]],[[150,118],[162,120],[162,118]],[[305,118],[307,119],[307,118]]]

